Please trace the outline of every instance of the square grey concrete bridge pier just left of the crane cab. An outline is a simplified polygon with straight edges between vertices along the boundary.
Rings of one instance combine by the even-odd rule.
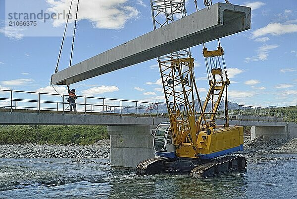
[[[136,168],[143,160],[154,157],[155,125],[108,126],[111,166]]]

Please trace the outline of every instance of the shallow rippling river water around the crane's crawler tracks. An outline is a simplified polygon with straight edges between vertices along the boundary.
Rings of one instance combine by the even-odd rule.
[[[297,154],[258,154],[247,170],[198,179],[136,176],[108,159],[0,159],[0,199],[294,199]]]

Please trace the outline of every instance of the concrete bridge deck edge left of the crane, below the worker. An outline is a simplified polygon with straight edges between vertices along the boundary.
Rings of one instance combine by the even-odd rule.
[[[53,112],[53,113],[51,113]],[[48,111],[48,113],[0,112],[1,125],[158,125],[168,121],[164,117],[151,117],[135,115],[120,116],[117,114],[84,114],[61,111]]]

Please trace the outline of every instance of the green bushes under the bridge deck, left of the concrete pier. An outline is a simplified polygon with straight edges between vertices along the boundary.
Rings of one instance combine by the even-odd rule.
[[[0,126],[0,144],[88,145],[107,138],[103,126]]]

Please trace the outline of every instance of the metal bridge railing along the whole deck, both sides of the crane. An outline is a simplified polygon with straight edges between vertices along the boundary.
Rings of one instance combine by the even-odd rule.
[[[80,113],[113,113],[113,114],[131,114],[151,116],[168,116],[165,103],[151,103],[135,100],[110,99],[100,97],[77,96],[76,108]],[[16,109],[29,109],[41,111],[69,111],[68,95],[59,95],[53,93],[28,92],[0,89],[0,108],[9,109],[14,112]],[[199,107],[196,107],[199,116]],[[207,107],[206,112],[211,108]],[[219,109],[216,118],[224,119],[225,110]],[[261,108],[255,106],[239,105],[237,109],[229,110],[231,119],[243,119],[245,116],[255,117],[285,117],[281,110],[276,108]],[[251,117],[252,118],[252,117]]]

